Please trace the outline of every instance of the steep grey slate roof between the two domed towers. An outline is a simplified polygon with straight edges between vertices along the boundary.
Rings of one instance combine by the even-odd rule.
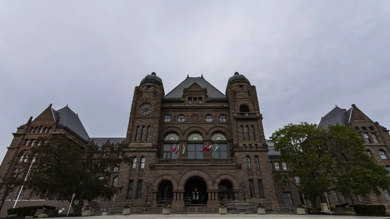
[[[183,96],[183,89],[190,87],[193,83],[197,83],[202,88],[207,88],[209,99],[226,99],[226,96],[206,81],[203,76],[197,78],[187,77],[183,82],[165,95],[164,99],[181,99]]]

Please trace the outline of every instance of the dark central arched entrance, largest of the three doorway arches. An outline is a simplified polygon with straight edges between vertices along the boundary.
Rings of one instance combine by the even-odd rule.
[[[200,177],[191,177],[184,185],[184,205],[206,205],[207,184]]]

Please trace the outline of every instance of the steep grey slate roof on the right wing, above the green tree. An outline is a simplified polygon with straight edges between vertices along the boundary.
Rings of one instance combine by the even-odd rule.
[[[345,125],[346,122],[349,121],[349,117],[351,117],[352,107],[348,110],[341,109],[338,106],[333,108],[328,114],[321,118],[318,126],[326,129],[329,125]]]

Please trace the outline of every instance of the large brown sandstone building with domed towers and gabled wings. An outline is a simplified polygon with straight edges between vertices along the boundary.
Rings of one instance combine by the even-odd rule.
[[[263,199],[267,205],[308,203],[295,187],[280,187],[274,182],[275,171],[289,171],[288,164],[278,159],[273,143],[265,139],[262,118],[256,87],[238,72],[228,79],[225,94],[203,76],[187,76],[165,94],[161,78],[153,72],[135,87],[125,138],[91,138],[68,106],[55,110],[50,104],[41,115],[34,120],[31,117],[12,133],[14,139],[0,174],[25,177],[21,162],[28,162],[26,154],[34,147],[34,139],[62,132],[85,144],[124,143],[133,157],[133,164],[121,165],[112,173],[113,184],[123,186],[122,192],[92,205],[143,205],[147,199],[152,206],[217,206],[222,199],[243,200],[244,196]],[[336,123],[358,127],[362,138],[367,134],[370,142],[367,140],[366,146],[372,156],[390,166],[390,136],[385,127],[372,122],[355,105],[349,110],[336,107],[319,125]],[[201,152],[206,145],[211,145],[211,150]],[[172,147],[178,149],[170,153]],[[382,152],[386,159],[378,154]],[[149,189],[145,187],[147,182]],[[18,193],[7,193],[2,188],[2,198],[7,200],[4,208],[13,206]],[[335,196],[330,197],[331,203],[337,203],[336,197],[341,201]],[[386,197],[364,197],[362,203],[387,203]],[[54,203],[55,195],[37,197],[28,190],[21,192],[20,200],[62,206],[59,201]],[[353,201],[360,203],[361,199]],[[32,203],[20,201],[18,206],[22,205]]]

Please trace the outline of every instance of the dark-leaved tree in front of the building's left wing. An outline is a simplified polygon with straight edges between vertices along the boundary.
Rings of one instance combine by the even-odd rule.
[[[38,142],[39,146],[31,149],[30,162],[25,169],[32,163],[25,185],[35,194],[55,194],[59,200],[71,202],[74,193],[71,205],[76,214],[81,211],[84,200],[109,199],[122,190],[113,186],[110,178],[113,168],[131,162],[122,145],[98,148],[64,134],[39,138]]]

